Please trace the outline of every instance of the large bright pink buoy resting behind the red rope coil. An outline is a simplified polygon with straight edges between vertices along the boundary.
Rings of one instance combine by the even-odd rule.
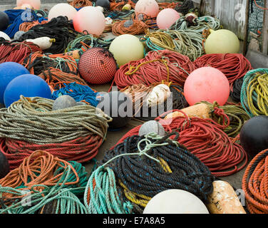
[[[202,67],[187,77],[184,94],[190,105],[201,101],[217,101],[219,105],[225,105],[230,95],[230,85],[225,74],[218,69]]]

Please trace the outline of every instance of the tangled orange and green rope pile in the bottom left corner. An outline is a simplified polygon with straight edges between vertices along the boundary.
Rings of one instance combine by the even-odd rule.
[[[0,213],[86,213],[81,199],[87,181],[80,163],[37,150],[0,180]]]

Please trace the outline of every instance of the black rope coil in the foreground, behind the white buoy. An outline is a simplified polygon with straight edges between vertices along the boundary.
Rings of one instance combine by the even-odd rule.
[[[162,165],[145,155],[120,156],[109,162],[108,166],[128,190],[139,195],[154,197],[164,190],[179,189],[206,200],[213,191],[212,182],[215,177],[195,155],[168,139],[172,135],[176,135],[175,140],[179,136],[178,133],[170,133],[160,140],[151,139],[155,144],[168,142],[168,145],[153,147],[147,152],[148,155],[167,162],[172,172],[166,172]],[[107,162],[116,155],[138,152],[138,142],[143,139],[144,135],[126,138],[113,150],[106,152],[102,162]],[[140,142],[142,149],[145,145],[145,142]]]

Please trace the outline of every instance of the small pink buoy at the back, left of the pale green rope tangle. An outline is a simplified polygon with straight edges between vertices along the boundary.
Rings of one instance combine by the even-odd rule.
[[[165,29],[170,28],[178,19],[180,19],[180,14],[174,9],[163,9],[158,14],[156,18],[156,23],[158,28]]]

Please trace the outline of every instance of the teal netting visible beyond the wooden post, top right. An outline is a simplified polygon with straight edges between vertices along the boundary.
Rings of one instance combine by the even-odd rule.
[[[247,48],[256,51],[263,51],[262,30],[264,22],[264,10],[260,9],[253,0],[249,6],[249,28],[247,38]],[[265,7],[266,0],[256,0],[256,3],[262,8]]]

